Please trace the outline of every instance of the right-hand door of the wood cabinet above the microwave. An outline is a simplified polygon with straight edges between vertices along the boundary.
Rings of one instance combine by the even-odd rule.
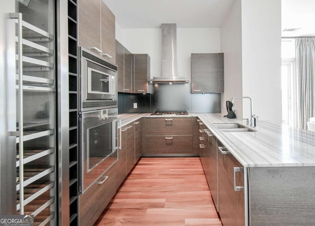
[[[101,50],[102,54],[108,54],[112,57],[108,58],[103,55],[106,61],[115,63],[115,15],[103,0],[101,0]]]

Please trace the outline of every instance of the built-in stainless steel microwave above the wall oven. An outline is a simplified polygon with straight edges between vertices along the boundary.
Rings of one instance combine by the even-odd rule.
[[[79,47],[80,111],[117,107],[117,66]]]

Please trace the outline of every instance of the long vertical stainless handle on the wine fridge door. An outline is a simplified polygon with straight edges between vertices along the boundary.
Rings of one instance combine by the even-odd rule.
[[[22,61],[22,13],[10,13],[11,19],[18,20],[18,75],[19,75],[19,184],[20,214],[24,214],[24,145],[23,145],[23,61]]]

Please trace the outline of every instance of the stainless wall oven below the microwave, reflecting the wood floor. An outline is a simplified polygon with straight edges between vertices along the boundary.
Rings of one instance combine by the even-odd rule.
[[[118,108],[80,114],[80,192],[118,160]],[[106,179],[106,178],[104,178]]]

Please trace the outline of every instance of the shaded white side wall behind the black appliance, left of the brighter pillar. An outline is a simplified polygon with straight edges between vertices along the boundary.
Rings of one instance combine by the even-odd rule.
[[[225,101],[242,96],[242,15],[241,0],[235,0],[221,27],[221,52],[224,53],[224,93],[221,113],[226,114]],[[243,117],[242,101],[236,101],[235,113]]]

